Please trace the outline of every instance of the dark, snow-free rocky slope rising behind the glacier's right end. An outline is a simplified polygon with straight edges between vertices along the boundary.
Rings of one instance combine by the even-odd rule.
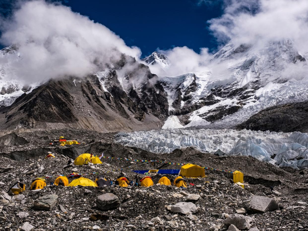
[[[308,132],[308,101],[266,108],[239,124],[239,129]]]

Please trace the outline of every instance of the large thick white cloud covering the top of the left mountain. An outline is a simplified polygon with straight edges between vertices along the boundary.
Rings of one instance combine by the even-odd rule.
[[[95,72],[120,53],[139,58],[137,47],[102,24],[43,0],[23,2],[12,19],[2,20],[1,43],[16,44],[21,58],[6,55],[0,65],[12,78],[25,82],[67,75],[83,77]]]

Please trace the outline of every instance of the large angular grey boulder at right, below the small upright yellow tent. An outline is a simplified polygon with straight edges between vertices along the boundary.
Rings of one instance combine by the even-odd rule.
[[[278,204],[270,197],[253,196],[250,201],[249,209],[258,213],[266,213],[278,209]]]

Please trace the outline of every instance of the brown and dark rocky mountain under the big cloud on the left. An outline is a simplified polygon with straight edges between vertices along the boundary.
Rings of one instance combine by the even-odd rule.
[[[133,67],[126,70],[127,66]],[[147,66],[122,58],[82,79],[51,79],[8,107],[2,128],[152,129],[168,115],[167,95]],[[8,91],[8,88],[6,88]]]

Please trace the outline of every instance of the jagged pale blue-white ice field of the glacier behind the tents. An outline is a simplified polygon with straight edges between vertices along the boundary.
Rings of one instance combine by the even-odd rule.
[[[178,125],[173,119],[169,124]],[[115,135],[115,142],[154,153],[170,153],[187,147],[211,153],[220,149],[230,156],[253,156],[279,167],[308,167],[308,133],[302,132],[178,128],[120,132]]]

